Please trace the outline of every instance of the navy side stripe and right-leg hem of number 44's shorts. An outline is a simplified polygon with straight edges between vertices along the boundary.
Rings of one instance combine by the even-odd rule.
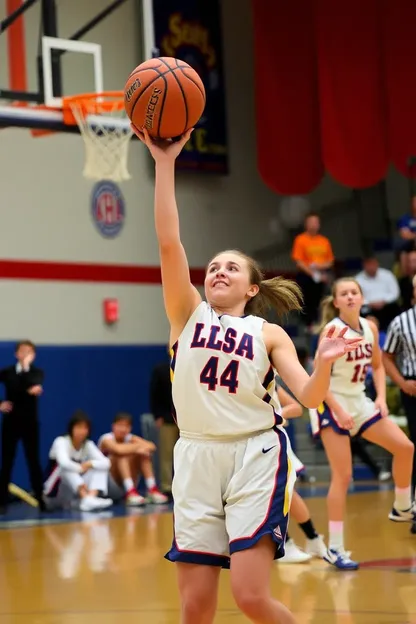
[[[241,537],[230,542],[230,554],[252,548],[265,535],[270,535],[276,544],[275,559],[285,554],[285,542],[289,514],[284,515],[286,486],[288,481],[289,462],[287,455],[287,437],[284,431],[274,429],[279,438],[280,454],[276,466],[275,487],[270,499],[269,509],[263,523],[249,537]]]

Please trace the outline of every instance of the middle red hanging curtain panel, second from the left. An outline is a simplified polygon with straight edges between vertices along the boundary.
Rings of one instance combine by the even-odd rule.
[[[378,6],[315,3],[323,159],[355,188],[376,184],[388,166]]]

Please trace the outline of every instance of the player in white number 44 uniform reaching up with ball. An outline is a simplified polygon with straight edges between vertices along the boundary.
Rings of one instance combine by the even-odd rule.
[[[231,568],[240,610],[258,624],[292,624],[270,595],[275,556],[284,540],[294,483],[273,397],[274,368],[299,401],[316,407],[329,386],[332,362],[357,340],[329,332],[309,377],[281,327],[253,316],[268,306],[299,309],[299,289],[281,278],[262,280],[240,252],[208,265],[207,302],[190,281],[175,200],[175,159],[190,132],[153,142],[136,131],[156,162],[155,223],[163,295],[170,321],[172,390],[180,438],[174,453],[174,541],[182,624],[211,624],[221,567]]]

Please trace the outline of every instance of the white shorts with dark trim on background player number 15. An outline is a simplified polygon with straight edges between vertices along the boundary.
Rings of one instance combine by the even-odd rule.
[[[333,393],[333,395],[334,399],[354,419],[354,427],[350,430],[340,427],[337,415],[326,403],[322,403],[318,409],[309,410],[312,435],[314,437],[319,437],[321,430],[327,427],[331,427],[340,435],[359,436],[382,418],[374,402],[366,397],[365,394],[350,396]]]

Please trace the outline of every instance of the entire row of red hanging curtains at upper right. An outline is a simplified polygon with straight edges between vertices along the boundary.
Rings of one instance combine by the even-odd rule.
[[[416,155],[416,0],[253,0],[258,168],[282,194]],[[414,121],[415,120],[415,121]]]

